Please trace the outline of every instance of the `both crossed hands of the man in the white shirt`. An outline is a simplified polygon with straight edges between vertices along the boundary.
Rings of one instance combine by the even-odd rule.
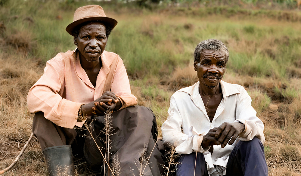
[[[245,125],[239,122],[224,122],[219,127],[210,129],[204,136],[201,145],[203,149],[213,145],[221,145],[222,148],[227,144],[232,145],[244,128]]]

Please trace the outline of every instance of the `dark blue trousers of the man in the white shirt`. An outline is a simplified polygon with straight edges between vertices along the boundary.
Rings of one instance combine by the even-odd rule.
[[[196,153],[181,155],[179,162],[182,164],[177,166],[177,176],[209,175],[203,153],[197,153],[197,156]],[[228,159],[226,173],[231,176],[268,176],[263,145],[257,137],[250,141],[239,141],[235,145]]]

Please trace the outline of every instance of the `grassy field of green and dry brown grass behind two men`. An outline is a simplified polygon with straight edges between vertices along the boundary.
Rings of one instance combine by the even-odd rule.
[[[65,31],[75,9],[96,3],[118,21],[106,50],[123,59],[132,93],[139,105],[151,107],[159,129],[170,96],[197,82],[196,45],[219,39],[230,52],[223,80],[247,89],[265,124],[269,176],[301,175],[301,12],[292,9],[296,2],[201,2],[151,11],[105,2],[0,0],[0,170],[14,161],[31,134],[29,88],[47,60],[75,48]],[[85,164],[77,163],[79,175],[87,174]],[[45,175],[35,138],[4,175]]]

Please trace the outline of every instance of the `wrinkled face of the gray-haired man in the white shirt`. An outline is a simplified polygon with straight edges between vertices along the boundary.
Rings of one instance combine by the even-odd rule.
[[[225,73],[225,54],[220,51],[205,50],[200,56],[200,61],[194,61],[193,65],[200,84],[210,89],[215,88]]]

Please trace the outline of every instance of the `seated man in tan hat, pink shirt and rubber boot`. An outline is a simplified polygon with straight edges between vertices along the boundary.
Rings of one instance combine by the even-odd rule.
[[[114,172],[109,163],[118,163],[122,175],[139,175],[137,161],[148,154],[145,175],[162,172],[158,164],[163,163],[162,155],[154,142],[155,116],[146,107],[134,106],[136,97],[131,94],[122,59],[104,50],[116,24],[98,5],[78,8],[73,23],[66,28],[77,48],[48,60],[43,76],[29,90],[29,111],[35,113],[33,134],[50,175],[75,175],[74,153],[83,154],[94,168],[106,174]],[[107,153],[107,136],[101,131],[105,131],[107,122],[103,115],[110,111],[113,135]],[[88,121],[92,121],[89,131],[82,130]]]

